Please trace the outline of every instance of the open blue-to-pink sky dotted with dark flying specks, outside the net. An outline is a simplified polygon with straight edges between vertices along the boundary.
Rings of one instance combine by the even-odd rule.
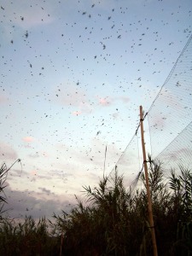
[[[0,158],[8,167],[21,160],[6,180],[7,214],[51,218],[123,154],[139,106],[151,106],[191,35],[192,3],[0,6]]]

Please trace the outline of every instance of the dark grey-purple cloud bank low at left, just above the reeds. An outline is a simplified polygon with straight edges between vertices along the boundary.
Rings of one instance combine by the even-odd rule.
[[[32,216],[34,219],[51,218],[53,213],[60,214],[61,210],[68,212],[69,205],[74,203],[74,199],[71,201],[71,196],[57,196],[55,200],[55,194],[51,193],[44,196],[44,193],[49,192],[48,189],[39,188],[42,193],[34,193],[31,190],[12,190],[6,188],[5,193],[8,198],[8,204],[3,207],[3,210],[8,210],[4,215],[8,215],[9,218],[23,219],[26,216]]]

